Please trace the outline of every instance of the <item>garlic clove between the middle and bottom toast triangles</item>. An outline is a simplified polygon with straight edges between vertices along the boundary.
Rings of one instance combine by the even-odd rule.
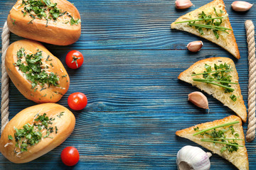
[[[191,101],[199,108],[209,108],[206,96],[204,96],[200,91],[194,91],[191,94],[188,94],[188,101]]]

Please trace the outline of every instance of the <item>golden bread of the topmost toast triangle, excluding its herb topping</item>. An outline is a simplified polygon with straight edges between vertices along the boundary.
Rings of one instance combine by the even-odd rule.
[[[208,30],[208,31],[204,30],[204,33],[206,33],[206,32],[209,33],[209,36],[206,37],[206,34],[201,35],[201,33],[199,33],[196,28],[194,28],[194,27],[191,28],[190,26],[187,25],[187,23],[176,23],[176,22],[180,22],[180,21],[190,20],[191,17],[196,17],[193,19],[197,19],[198,13],[201,13],[202,11],[209,10],[212,13],[215,13],[213,7],[215,7],[215,8],[218,7],[224,13],[227,13],[227,11],[225,10],[225,4],[224,4],[223,0],[214,0],[204,6],[201,6],[200,8],[198,8],[194,11],[191,11],[190,13],[186,13],[185,15],[179,17],[176,21],[174,21],[174,23],[171,23],[171,29],[184,30],[188,33],[198,35],[201,38],[206,38],[207,40],[210,40],[211,42],[214,42],[215,44],[220,45],[220,47],[223,47],[225,50],[230,52],[237,59],[240,59],[240,52],[238,50],[238,44],[235,40],[235,35],[233,33],[233,30],[227,30],[229,34],[227,34],[225,38],[220,36],[220,38],[218,38],[218,40],[217,40],[211,30]],[[230,24],[228,16],[223,21],[222,26],[223,25],[225,25],[225,28],[232,29],[232,26]],[[220,33],[220,31],[218,31],[218,33]]]

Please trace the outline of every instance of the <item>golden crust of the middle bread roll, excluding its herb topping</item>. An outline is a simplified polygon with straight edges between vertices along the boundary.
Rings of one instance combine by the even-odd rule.
[[[42,87],[38,87],[38,89],[31,88],[31,81],[26,79],[26,76],[23,75],[21,70],[18,70],[18,67],[15,67],[14,63],[17,62],[17,52],[23,47],[25,50],[29,50],[35,54],[37,49],[43,51],[42,55],[44,60],[48,57],[49,62],[49,71],[54,74],[58,74],[59,77],[59,86],[48,86],[46,89],[42,90]],[[50,66],[51,65],[53,66]],[[11,81],[13,81],[14,85],[18,89],[18,91],[23,94],[26,98],[36,103],[55,103],[62,98],[62,96],[68,91],[68,87],[70,86],[70,78],[68,77],[68,73],[65,70],[62,62],[58,60],[57,57],[53,56],[46,47],[43,47],[41,43],[33,41],[33,40],[18,40],[13,42],[6,52],[5,59],[5,67],[6,72],[8,73]],[[46,86],[45,86],[46,87]]]

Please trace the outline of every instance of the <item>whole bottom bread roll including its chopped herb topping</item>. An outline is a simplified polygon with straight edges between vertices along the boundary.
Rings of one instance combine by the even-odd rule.
[[[58,147],[74,128],[75,116],[68,108],[55,103],[31,106],[6,125],[1,133],[0,152],[17,164],[31,162]]]

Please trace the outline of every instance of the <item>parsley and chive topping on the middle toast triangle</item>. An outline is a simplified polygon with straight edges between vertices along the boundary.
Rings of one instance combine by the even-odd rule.
[[[225,93],[230,93],[235,91],[231,87],[230,84],[238,84],[235,82],[231,81],[231,76],[229,75],[230,72],[233,71],[233,69],[230,68],[230,65],[227,63],[224,64],[214,64],[214,69],[208,64],[205,64],[206,71],[203,73],[198,73],[198,74],[192,74],[191,76],[198,76],[198,75],[203,75],[203,79],[193,79],[193,81],[198,81],[206,84],[213,84],[215,86],[221,86],[224,89]],[[232,94],[230,98],[233,101],[237,100],[237,97]]]

